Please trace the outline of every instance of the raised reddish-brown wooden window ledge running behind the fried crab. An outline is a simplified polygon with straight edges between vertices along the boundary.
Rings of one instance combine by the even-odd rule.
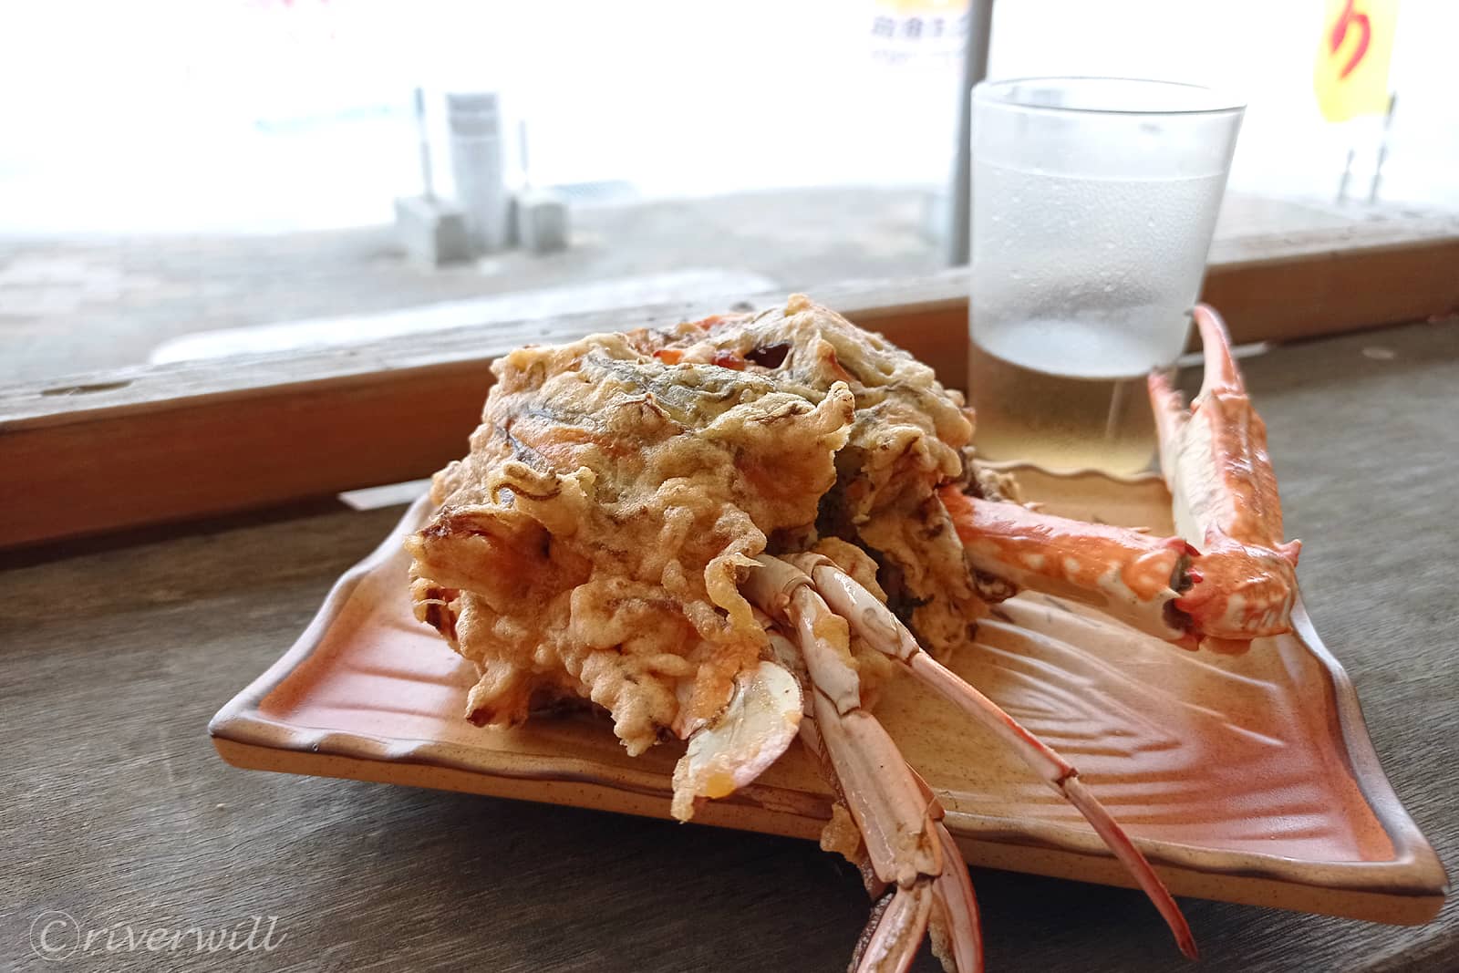
[[[1226,241],[1205,298],[1237,341],[1299,338],[1459,308],[1456,268],[1459,217],[1357,223]],[[966,271],[814,296],[963,382]],[[477,423],[495,356],[724,309],[661,305],[0,389],[0,547],[427,476]]]

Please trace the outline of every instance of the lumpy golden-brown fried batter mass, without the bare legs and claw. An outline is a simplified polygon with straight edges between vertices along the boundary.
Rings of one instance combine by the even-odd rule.
[[[738,592],[765,550],[880,566],[934,651],[983,614],[934,496],[963,476],[961,400],[804,296],[518,349],[493,371],[470,454],[436,474],[441,511],[407,541],[417,617],[480,672],[477,722],[587,697],[632,753],[689,735],[765,646]]]

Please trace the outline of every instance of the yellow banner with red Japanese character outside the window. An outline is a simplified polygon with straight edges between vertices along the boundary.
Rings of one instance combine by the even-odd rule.
[[[1328,0],[1313,88],[1328,121],[1388,111],[1398,0]]]

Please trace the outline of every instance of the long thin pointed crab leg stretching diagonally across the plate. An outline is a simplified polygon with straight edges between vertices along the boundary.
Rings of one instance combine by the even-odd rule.
[[[1170,926],[1170,932],[1174,934],[1180,951],[1192,960],[1196,958],[1195,938],[1191,935],[1185,916],[1180,915],[1180,907],[1164,883],[1160,881],[1156,869],[1125,834],[1125,830],[1080,780],[1074,764],[1024,729],[1018,721],[991,699],[924,652],[902,620],[870,591],[836,567],[830,559],[818,554],[800,554],[795,563],[808,569],[817,591],[837,614],[851,621],[868,645],[903,662],[925,686],[994,731],[1014,753],[1023,757],[1034,773],[1064,795],[1150,896],[1166,925]]]

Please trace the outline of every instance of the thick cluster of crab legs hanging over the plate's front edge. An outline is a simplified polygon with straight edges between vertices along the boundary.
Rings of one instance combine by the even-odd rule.
[[[906,970],[926,932],[940,923],[944,950],[979,969],[976,912],[956,885],[967,867],[940,824],[941,807],[907,767],[881,724],[861,706],[861,681],[851,659],[849,627],[832,613],[811,579],[783,560],[762,556],[744,592],[751,604],[789,627],[794,642],[772,632],[772,652],[792,671],[804,668],[810,700],[800,732],[821,756],[861,833],[870,859],[868,887],[891,887],[878,902],[858,944],[858,972]],[[969,934],[969,929],[973,929]],[[972,938],[969,938],[972,937]]]

